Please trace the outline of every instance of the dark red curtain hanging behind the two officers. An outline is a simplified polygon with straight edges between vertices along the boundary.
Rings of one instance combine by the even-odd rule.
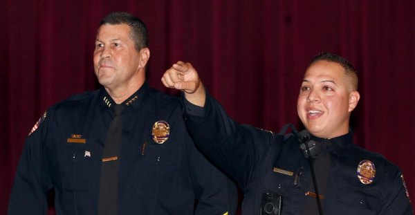
[[[112,11],[147,24],[151,86],[166,91],[164,71],[192,62],[233,118],[272,131],[299,125],[297,94],[311,57],[325,50],[349,59],[360,78],[356,143],[401,167],[415,203],[415,1],[2,0],[0,214],[37,119],[99,87],[95,32]]]

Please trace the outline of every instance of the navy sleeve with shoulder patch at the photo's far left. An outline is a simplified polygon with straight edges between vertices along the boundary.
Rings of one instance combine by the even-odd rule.
[[[42,118],[30,133],[24,145],[17,174],[12,186],[8,214],[46,214],[50,180],[45,165],[42,133],[47,124]],[[38,127],[38,128],[37,128]]]

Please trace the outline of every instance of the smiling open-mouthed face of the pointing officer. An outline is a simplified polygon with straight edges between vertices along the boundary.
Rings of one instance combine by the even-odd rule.
[[[335,138],[349,132],[349,118],[360,95],[353,91],[351,76],[335,62],[320,60],[304,74],[297,113],[304,127],[319,138]]]

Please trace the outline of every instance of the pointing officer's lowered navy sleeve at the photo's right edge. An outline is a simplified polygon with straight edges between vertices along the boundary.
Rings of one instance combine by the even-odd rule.
[[[392,168],[389,165],[386,168],[389,171],[386,171],[385,178],[391,179],[386,180],[385,187],[387,187],[388,192],[379,214],[413,214],[403,174],[397,167]],[[395,171],[392,171],[392,169]]]

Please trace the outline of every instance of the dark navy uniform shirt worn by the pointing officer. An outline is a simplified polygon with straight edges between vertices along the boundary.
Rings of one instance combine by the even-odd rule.
[[[311,168],[295,135],[239,124],[209,95],[203,108],[183,103],[196,145],[241,187],[243,215],[266,214],[264,194],[282,196],[281,214],[319,214]],[[351,133],[311,139],[324,143],[315,159],[323,214],[412,214],[396,165],[353,144]]]

